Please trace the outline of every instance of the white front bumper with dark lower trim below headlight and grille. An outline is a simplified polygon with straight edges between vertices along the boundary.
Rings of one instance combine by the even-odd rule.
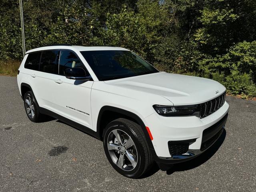
[[[152,127],[149,126],[149,128],[153,136],[154,149],[151,148],[151,152],[154,160],[158,164],[175,164],[200,155],[222,134],[228,118],[228,108],[229,105],[225,102],[219,110],[203,119],[194,116],[170,118],[158,114],[146,118],[147,123],[152,123],[150,124]],[[154,126],[156,124],[158,124],[157,127]],[[189,143],[188,151],[184,154],[171,155],[168,142],[176,141],[177,143],[183,140],[193,140]]]

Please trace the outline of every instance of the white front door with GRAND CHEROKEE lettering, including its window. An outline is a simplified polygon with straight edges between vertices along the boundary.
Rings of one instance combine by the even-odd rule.
[[[72,80],[65,76],[67,68],[83,68],[84,64],[75,52],[61,50],[59,58],[58,82],[54,86],[54,106],[58,114],[92,129],[91,89],[93,81]]]

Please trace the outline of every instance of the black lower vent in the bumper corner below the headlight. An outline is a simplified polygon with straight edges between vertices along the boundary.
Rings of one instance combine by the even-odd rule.
[[[172,156],[182,155],[188,152],[188,146],[190,143],[195,142],[196,139],[181,140],[181,141],[168,141],[169,152]]]

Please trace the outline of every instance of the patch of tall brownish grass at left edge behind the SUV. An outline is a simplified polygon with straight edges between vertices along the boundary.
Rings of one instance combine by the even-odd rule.
[[[19,60],[0,61],[0,76],[16,76],[19,67]]]

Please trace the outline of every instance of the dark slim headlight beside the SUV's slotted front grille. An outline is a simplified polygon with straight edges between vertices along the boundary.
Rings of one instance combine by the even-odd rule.
[[[153,108],[159,115],[162,116],[198,116],[200,114],[199,105],[186,105],[186,106],[162,106],[154,105]]]

